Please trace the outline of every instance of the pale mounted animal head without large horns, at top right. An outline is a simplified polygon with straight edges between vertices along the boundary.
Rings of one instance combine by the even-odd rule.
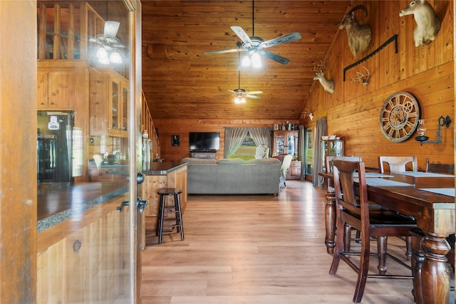
[[[434,41],[440,31],[440,20],[426,0],[413,0],[399,12],[399,16],[413,15],[416,27],[413,31],[415,46],[425,46]]]

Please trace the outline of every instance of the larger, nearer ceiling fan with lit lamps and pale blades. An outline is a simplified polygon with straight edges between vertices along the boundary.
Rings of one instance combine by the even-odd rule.
[[[263,38],[257,37],[254,34],[254,0],[252,0],[252,36],[249,37],[247,33],[244,31],[244,29],[241,26],[231,26],[232,31],[236,33],[239,38],[242,40],[242,45],[239,46],[238,48],[232,48],[230,50],[222,50],[222,51],[212,51],[212,52],[206,52],[206,55],[212,55],[212,54],[221,54],[221,53],[232,53],[232,52],[247,52],[249,56],[252,57],[252,65],[255,66],[257,61],[257,67],[261,66],[261,62],[258,63],[259,58],[258,55],[264,56],[266,58],[269,58],[273,61],[276,61],[281,64],[286,64],[289,63],[290,60],[288,58],[284,58],[282,56],[277,55],[276,53],[271,53],[270,51],[264,50],[264,48],[270,48],[271,46],[277,46],[281,43],[286,43],[290,41],[294,41],[297,39],[301,39],[301,34],[299,32],[294,32],[290,33],[289,35],[286,36],[281,36],[277,37],[268,41],[264,41]],[[257,58],[255,58],[257,56]],[[245,60],[245,58],[244,58]],[[244,60],[242,62],[242,65],[244,65]],[[250,60],[250,58],[248,59]],[[258,66],[259,64],[259,66]]]

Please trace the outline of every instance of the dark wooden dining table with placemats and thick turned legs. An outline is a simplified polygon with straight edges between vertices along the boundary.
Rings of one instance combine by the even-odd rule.
[[[327,181],[325,243],[327,252],[333,254],[336,244],[333,177],[331,172],[318,175]],[[455,176],[432,172],[366,172],[366,184],[369,201],[413,216],[421,231],[421,239],[413,242],[415,302],[449,303],[450,271],[446,255],[450,252],[447,236],[455,233]]]

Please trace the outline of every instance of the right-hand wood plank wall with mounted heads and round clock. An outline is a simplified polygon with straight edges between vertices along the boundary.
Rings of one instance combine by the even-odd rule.
[[[358,19],[372,28],[372,40],[368,55],[391,36],[398,35],[398,53],[390,43],[368,58],[361,65],[346,72],[343,68],[356,60],[351,54],[346,31],[339,31],[328,51],[326,73],[335,81],[335,92],[326,93],[321,85],[314,83],[311,98],[305,108],[314,112],[314,122],[306,120],[304,125],[314,127],[315,121],[327,117],[328,134],[345,137],[346,154],[360,155],[368,167],[378,167],[379,155],[418,156],[418,167],[425,169],[425,159],[432,162],[452,164],[454,162],[454,11],[453,1],[432,1],[441,21],[440,32],[428,46],[415,47],[413,16],[399,17],[399,11],[409,1],[353,1],[352,7],[363,4],[368,8],[368,17]],[[369,85],[353,83],[356,71],[363,66],[371,70]],[[427,136],[435,141],[437,120],[440,115],[450,115],[450,128],[442,127],[440,145],[420,145],[415,135],[405,142],[390,142],[380,130],[379,115],[385,100],[393,93],[407,91],[419,100],[427,127]]]

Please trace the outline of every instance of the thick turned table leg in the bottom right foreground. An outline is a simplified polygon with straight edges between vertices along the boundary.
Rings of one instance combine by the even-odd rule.
[[[446,263],[446,255],[450,251],[450,245],[445,236],[436,236],[427,232],[425,234],[421,240],[421,248],[425,256],[420,272],[422,303],[447,304],[450,300],[450,270]],[[419,282],[415,281],[415,283]],[[417,290],[418,286],[414,287]]]

